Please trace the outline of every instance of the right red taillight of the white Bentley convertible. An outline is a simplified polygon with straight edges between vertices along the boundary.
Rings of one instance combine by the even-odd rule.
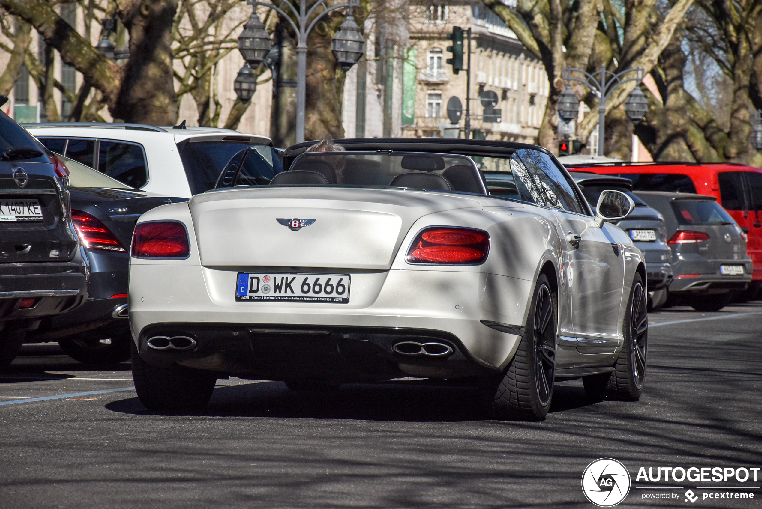
[[[470,228],[431,227],[421,231],[408,250],[409,263],[475,265],[484,262],[489,234]]]

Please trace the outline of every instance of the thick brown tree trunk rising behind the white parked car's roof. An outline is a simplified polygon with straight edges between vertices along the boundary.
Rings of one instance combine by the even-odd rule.
[[[171,30],[178,0],[129,0],[119,16],[130,32],[130,59],[119,97],[110,108],[127,122],[171,126],[177,120]]]

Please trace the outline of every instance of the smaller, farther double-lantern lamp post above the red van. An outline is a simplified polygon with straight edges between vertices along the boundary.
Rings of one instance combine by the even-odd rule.
[[[571,75],[571,72],[578,72],[581,75],[584,75],[586,79],[582,78],[575,78]],[[636,78],[627,78],[623,79],[622,76],[626,75],[629,72],[635,72]],[[642,68],[634,68],[634,69],[627,69],[623,72],[617,72],[616,74],[608,71],[606,68],[606,65],[600,66],[600,72],[595,73],[598,75],[596,76],[589,74],[588,72],[584,72],[582,69],[573,68],[573,67],[565,67],[563,70],[563,78],[566,81],[578,81],[581,84],[584,84],[591,88],[592,91],[597,92],[599,100],[598,100],[598,155],[604,155],[604,134],[606,132],[606,101],[608,100],[609,96],[611,95],[611,92],[614,91],[617,87],[620,85],[623,85],[627,83],[628,81],[643,81],[643,77],[645,76],[645,69]],[[636,94],[636,92],[640,93],[640,96]],[[632,100],[630,100],[630,97],[632,97]],[[562,101],[564,102],[565,107],[565,113],[562,113],[561,111],[561,105]],[[643,110],[643,105],[645,104],[645,110]],[[576,105],[576,109],[575,109]],[[569,116],[571,114],[571,110],[576,111],[579,109],[579,100],[577,100],[577,96],[575,95],[574,91],[571,90],[571,86],[567,86],[564,93],[561,95],[561,100],[559,100],[559,116],[564,120],[564,122],[568,122],[574,116]],[[627,113],[627,116],[629,116],[629,119],[631,119],[633,122],[637,121],[639,122],[643,116],[645,115],[645,112],[648,111],[648,102],[645,101],[645,95],[643,92],[636,87],[634,91],[632,91],[632,94],[629,95],[627,98],[627,102],[625,103],[625,111]],[[564,116],[566,115],[566,117]]]

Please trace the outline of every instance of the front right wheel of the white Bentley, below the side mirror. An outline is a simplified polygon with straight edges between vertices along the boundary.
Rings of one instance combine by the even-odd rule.
[[[600,401],[605,393],[616,399],[637,401],[643,390],[645,367],[648,360],[647,296],[640,275],[635,276],[629,292],[622,327],[622,352],[614,364],[614,371],[582,378],[588,398]]]

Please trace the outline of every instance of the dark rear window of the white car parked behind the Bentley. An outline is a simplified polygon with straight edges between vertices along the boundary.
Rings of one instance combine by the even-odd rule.
[[[266,161],[283,167],[278,159],[279,152],[274,148],[265,145],[251,145],[247,142],[189,142],[183,148],[180,157],[185,168],[185,175],[188,184],[191,186],[191,192],[199,194],[210,189],[214,189],[219,174],[222,173],[228,161],[235,154],[245,148],[255,148]]]

